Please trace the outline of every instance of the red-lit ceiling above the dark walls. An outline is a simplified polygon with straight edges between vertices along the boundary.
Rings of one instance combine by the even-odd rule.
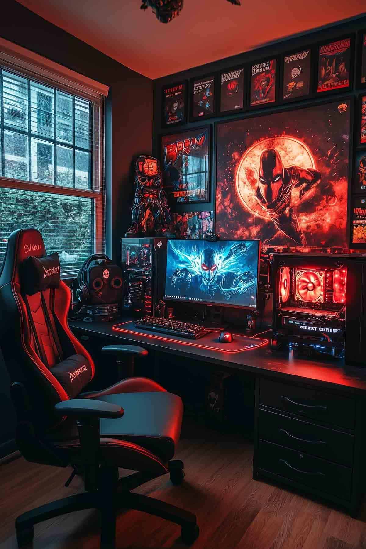
[[[18,0],[151,79],[235,55],[364,11],[364,0],[184,0],[164,25],[140,0]]]

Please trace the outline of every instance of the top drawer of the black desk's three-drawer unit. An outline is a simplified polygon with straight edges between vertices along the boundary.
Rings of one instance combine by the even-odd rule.
[[[262,379],[260,404],[338,427],[354,428],[354,400],[346,396]]]

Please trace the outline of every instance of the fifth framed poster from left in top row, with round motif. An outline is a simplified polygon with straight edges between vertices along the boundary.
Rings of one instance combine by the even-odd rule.
[[[283,99],[306,97],[310,92],[311,49],[291,53],[283,60]]]

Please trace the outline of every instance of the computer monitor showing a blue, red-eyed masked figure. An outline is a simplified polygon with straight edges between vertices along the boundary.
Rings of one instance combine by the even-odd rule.
[[[165,299],[256,309],[259,240],[168,240]]]

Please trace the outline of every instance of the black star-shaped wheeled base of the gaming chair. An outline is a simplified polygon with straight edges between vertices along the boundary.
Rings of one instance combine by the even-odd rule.
[[[171,478],[183,480],[183,462],[170,461],[168,470]],[[114,549],[116,547],[116,518],[121,508],[135,509],[179,524],[182,527],[182,541],[187,545],[192,544],[199,535],[196,516],[193,513],[149,496],[131,494],[131,490],[154,478],[157,478],[157,475],[137,472],[118,479],[117,467],[101,467],[97,490],[64,497],[21,514],[15,520],[18,546],[27,545],[32,541],[33,526],[43,520],[82,509],[98,509],[102,518],[100,549]],[[173,480],[172,482],[179,484]]]

